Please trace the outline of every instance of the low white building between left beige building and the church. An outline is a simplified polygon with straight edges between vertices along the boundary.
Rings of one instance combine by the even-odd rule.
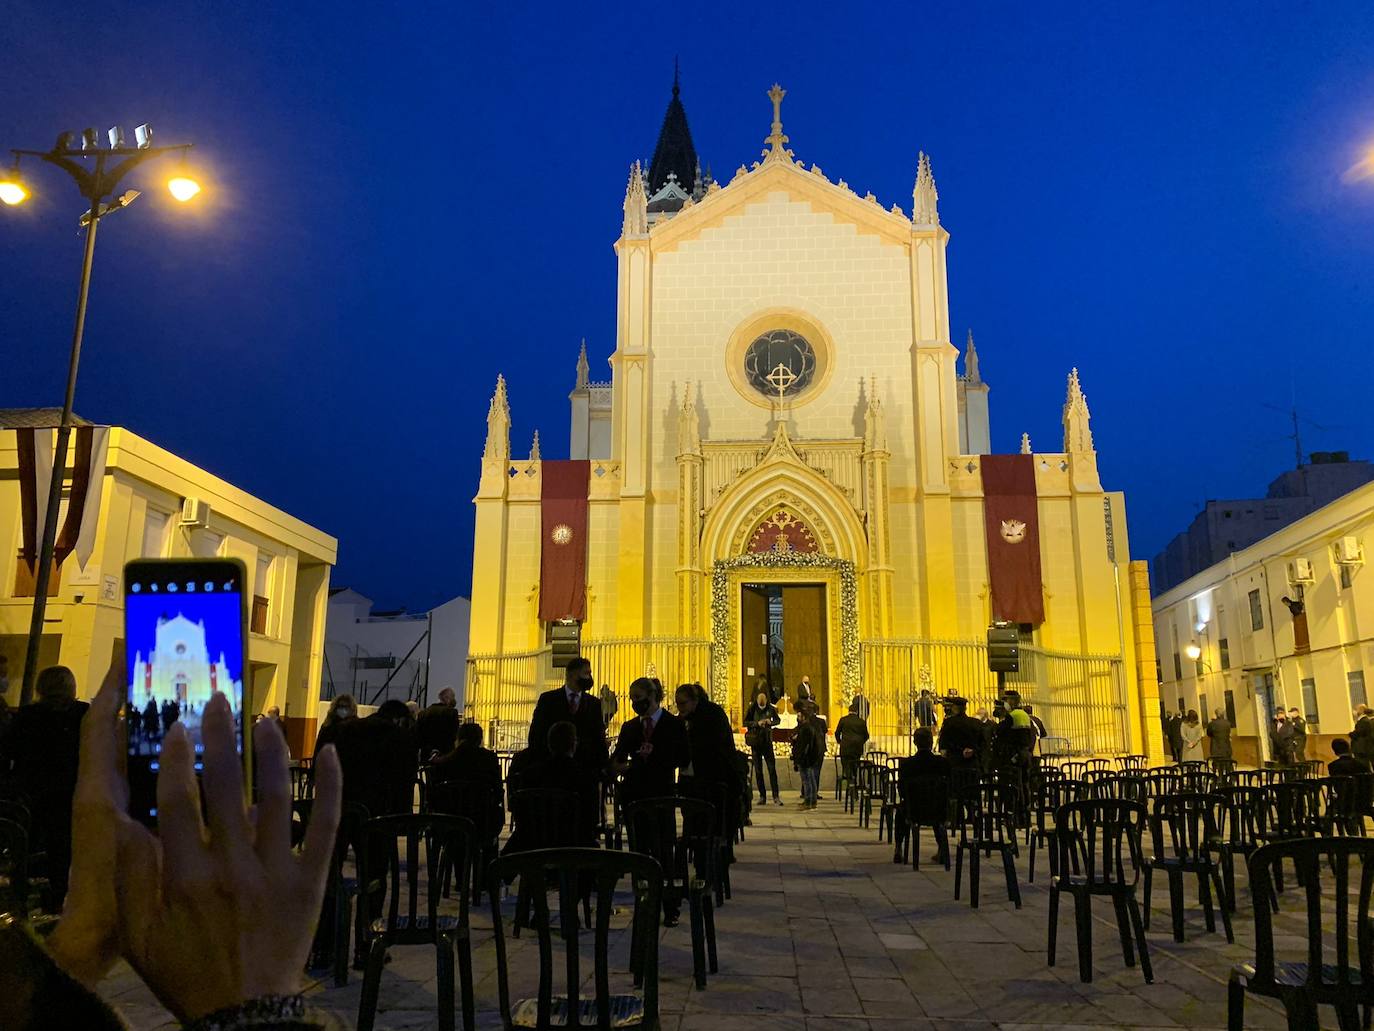
[[[352,694],[365,705],[387,698],[433,702],[445,687],[463,704],[467,598],[430,612],[374,612],[372,599],[344,587],[330,592],[322,697]]]

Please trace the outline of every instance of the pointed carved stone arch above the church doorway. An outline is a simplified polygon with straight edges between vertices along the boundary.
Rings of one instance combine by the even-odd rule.
[[[779,506],[807,522],[822,554],[848,559],[859,570],[867,565],[867,535],[849,500],[790,447],[776,445],[710,507],[701,535],[703,565],[745,554],[750,535],[768,510]]]

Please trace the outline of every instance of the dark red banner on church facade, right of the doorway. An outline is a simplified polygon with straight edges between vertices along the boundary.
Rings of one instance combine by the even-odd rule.
[[[1044,623],[1033,455],[984,455],[982,511],[992,617]]]

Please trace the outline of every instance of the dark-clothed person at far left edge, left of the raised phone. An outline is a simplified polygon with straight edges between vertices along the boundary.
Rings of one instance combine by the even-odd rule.
[[[41,671],[36,693],[36,702],[14,713],[4,757],[14,763],[14,779],[29,797],[30,845],[36,852],[47,851],[44,909],[56,913],[67,894],[81,720],[91,707],[77,701],[77,678],[65,665]]]

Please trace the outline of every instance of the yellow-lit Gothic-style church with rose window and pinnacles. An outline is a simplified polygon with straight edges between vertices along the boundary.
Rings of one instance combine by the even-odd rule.
[[[467,697],[496,746],[580,652],[620,696],[699,680],[736,722],[802,676],[831,726],[856,693],[905,751],[922,690],[991,709],[993,619],[1052,742],[1156,752],[1154,645],[1125,507],[1098,477],[1077,370],[1062,448],[991,455],[971,334],[952,342],[930,159],[910,210],[789,150],[785,91],[758,161],[702,175],[675,84],[632,166],[610,381],[585,345],[570,461],[513,458],[499,379],[475,498]],[[548,399],[519,397],[543,410]],[[1047,399],[1047,403],[1058,403]],[[519,404],[517,404],[517,421]],[[1150,735],[1156,738],[1150,745]]]

